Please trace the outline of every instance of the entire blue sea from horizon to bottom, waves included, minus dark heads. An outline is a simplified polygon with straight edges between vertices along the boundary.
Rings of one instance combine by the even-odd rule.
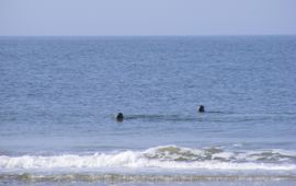
[[[0,37],[0,185],[296,185],[296,36]]]

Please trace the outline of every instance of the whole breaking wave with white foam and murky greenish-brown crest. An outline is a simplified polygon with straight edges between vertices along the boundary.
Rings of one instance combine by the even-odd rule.
[[[281,150],[226,151],[220,148],[191,149],[162,146],[145,151],[88,155],[0,155],[0,171],[48,168],[167,168],[296,171],[296,153]]]

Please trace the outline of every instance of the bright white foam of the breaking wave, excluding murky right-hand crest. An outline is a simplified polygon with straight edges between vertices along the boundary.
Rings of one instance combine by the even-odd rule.
[[[164,149],[163,149],[164,148]],[[167,149],[166,149],[167,148]],[[170,149],[171,148],[171,149]],[[161,153],[160,153],[161,152]],[[117,153],[95,153],[91,155],[62,154],[53,156],[23,155],[0,156],[0,168],[103,168],[103,167],[160,167],[169,170],[266,170],[266,171],[295,171],[293,163],[262,163],[262,162],[232,162],[234,152],[217,152],[210,159],[190,160],[191,156],[203,158],[205,152],[198,149],[178,148],[175,146],[157,147],[146,151],[124,151]],[[208,153],[208,151],[206,151]],[[148,156],[147,156],[148,154]],[[164,154],[164,155],[163,155]],[[186,158],[180,161],[180,156]],[[237,154],[244,159],[246,154]],[[195,156],[194,156],[195,158]],[[218,158],[218,159],[217,159]],[[196,159],[196,158],[195,158]],[[223,160],[219,160],[223,159]],[[254,158],[255,159],[255,158]]]

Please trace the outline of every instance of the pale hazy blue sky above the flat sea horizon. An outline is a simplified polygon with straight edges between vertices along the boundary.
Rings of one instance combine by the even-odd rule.
[[[296,0],[0,0],[0,35],[296,34]]]

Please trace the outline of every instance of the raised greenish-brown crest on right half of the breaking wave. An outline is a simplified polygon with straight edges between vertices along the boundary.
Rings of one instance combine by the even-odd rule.
[[[296,153],[281,150],[265,151],[225,151],[220,148],[191,149],[177,146],[163,146],[148,149],[144,153],[148,159],[168,161],[219,161],[219,162],[258,162],[280,163],[296,162]]]

